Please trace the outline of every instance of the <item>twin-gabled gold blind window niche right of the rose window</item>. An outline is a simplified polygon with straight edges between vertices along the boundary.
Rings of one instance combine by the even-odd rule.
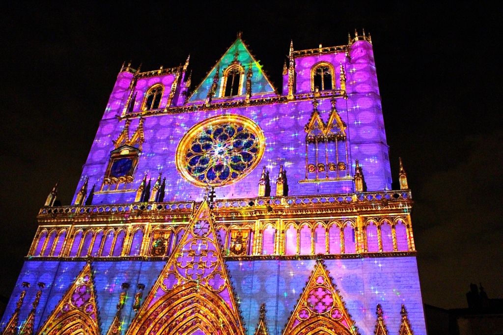
[[[348,143],[346,124],[336,110],[332,99],[332,109],[325,123],[318,112],[318,102],[313,101],[313,112],[306,132],[306,181],[337,180],[349,177]]]

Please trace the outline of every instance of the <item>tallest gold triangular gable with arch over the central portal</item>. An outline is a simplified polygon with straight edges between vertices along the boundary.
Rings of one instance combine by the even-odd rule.
[[[241,318],[205,201],[145,298],[127,334],[243,335]]]

